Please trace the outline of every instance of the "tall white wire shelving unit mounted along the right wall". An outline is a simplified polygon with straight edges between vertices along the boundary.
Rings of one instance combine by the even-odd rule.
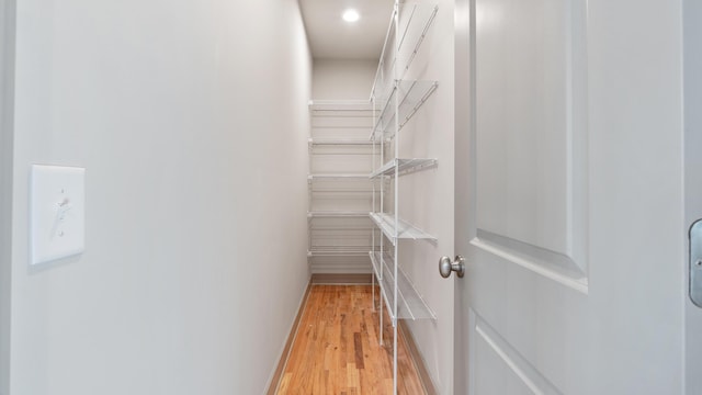
[[[415,224],[399,217],[401,176],[438,166],[434,158],[400,156],[400,131],[421,110],[438,89],[438,81],[406,79],[412,61],[437,16],[438,5],[395,1],[375,81],[371,90],[376,117],[369,140],[373,143],[373,170],[369,178],[378,180],[373,193],[371,221],[373,247],[369,252],[374,281],[380,284],[380,319],[383,330],[383,309],[393,324],[393,393],[397,394],[397,325],[398,319],[435,319],[435,315],[411,278],[399,262],[401,240],[433,240],[437,238]],[[375,285],[375,284],[374,284]],[[375,306],[375,286],[373,286]],[[383,334],[378,338],[383,345]]]

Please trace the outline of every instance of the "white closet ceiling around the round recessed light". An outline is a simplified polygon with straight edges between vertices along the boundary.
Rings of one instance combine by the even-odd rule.
[[[394,0],[298,0],[314,58],[374,59],[381,56]],[[361,14],[341,19],[347,8]]]

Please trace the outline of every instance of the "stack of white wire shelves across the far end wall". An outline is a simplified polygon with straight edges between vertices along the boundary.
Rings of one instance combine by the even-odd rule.
[[[375,114],[369,100],[309,102],[307,257],[313,271],[370,270],[367,251],[377,228],[367,212],[376,182],[367,177],[374,156],[366,137]]]

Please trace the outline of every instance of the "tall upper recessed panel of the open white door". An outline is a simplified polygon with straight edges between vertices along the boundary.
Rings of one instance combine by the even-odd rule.
[[[476,0],[474,242],[587,290],[580,1]],[[577,38],[575,38],[577,37]]]

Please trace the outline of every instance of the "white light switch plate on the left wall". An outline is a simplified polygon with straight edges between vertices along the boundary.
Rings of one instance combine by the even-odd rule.
[[[32,264],[84,250],[84,168],[33,165],[30,200]]]

